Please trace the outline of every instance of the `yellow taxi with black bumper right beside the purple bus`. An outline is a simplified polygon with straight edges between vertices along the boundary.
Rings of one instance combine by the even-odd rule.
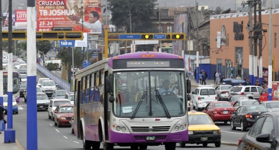
[[[216,147],[221,146],[221,130],[216,126],[213,120],[206,113],[189,111],[188,112],[188,141],[179,143],[180,147],[185,144],[202,144],[207,146],[208,143],[214,143]]]

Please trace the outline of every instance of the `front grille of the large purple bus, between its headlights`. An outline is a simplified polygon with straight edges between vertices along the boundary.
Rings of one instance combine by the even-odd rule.
[[[164,132],[170,128],[171,126],[131,126],[133,132]]]

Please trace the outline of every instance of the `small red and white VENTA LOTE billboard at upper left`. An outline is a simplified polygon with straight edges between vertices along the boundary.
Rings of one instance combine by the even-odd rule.
[[[27,10],[17,9],[15,10],[15,28],[26,29],[27,28]]]

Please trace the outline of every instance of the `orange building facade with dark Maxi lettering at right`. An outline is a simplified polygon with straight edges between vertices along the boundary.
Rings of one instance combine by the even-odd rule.
[[[253,14],[254,16],[254,14]],[[257,16],[258,18],[259,16]],[[279,9],[273,9],[272,51],[275,55],[275,70],[279,70],[278,39]],[[257,19],[258,20],[258,19]],[[235,78],[238,74],[243,78],[249,76],[249,21],[248,12],[219,14],[210,16],[210,72],[219,70],[226,78]],[[253,20],[254,24],[254,20]],[[268,68],[269,43],[269,10],[262,11],[262,64],[263,71]],[[257,43],[257,59],[259,45]]]

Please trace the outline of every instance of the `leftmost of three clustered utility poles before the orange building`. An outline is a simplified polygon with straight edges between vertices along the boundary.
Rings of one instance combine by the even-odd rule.
[[[253,81],[254,70],[253,70],[253,1],[248,1],[249,5],[249,78]]]

